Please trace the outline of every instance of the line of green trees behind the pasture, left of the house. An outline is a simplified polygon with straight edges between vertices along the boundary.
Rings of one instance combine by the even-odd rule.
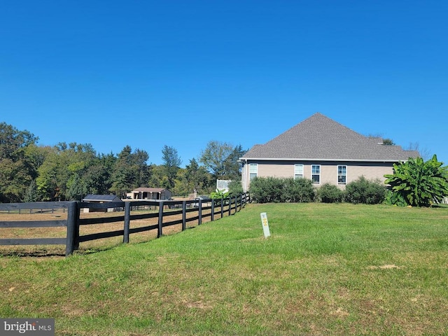
[[[241,180],[241,145],[209,141],[185,168],[172,146],[162,148],[162,165],[125,146],[118,154],[97,153],[91,144],[39,146],[27,130],[0,123],[0,202],[81,200],[88,194],[117,195],[139,187],[167,188],[174,195],[209,194],[217,179]]]

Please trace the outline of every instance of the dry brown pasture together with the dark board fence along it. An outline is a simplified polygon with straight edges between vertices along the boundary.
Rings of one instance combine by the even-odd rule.
[[[235,214],[248,200],[0,204],[0,255],[69,255],[148,241]]]

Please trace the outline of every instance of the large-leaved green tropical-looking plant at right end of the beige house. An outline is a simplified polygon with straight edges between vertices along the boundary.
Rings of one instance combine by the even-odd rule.
[[[437,161],[437,156],[428,161],[409,158],[393,165],[393,174],[384,175],[390,187],[386,199],[389,204],[413,207],[430,207],[448,196],[448,166]]]

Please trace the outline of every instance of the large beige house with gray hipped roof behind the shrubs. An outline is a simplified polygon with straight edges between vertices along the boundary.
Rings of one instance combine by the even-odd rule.
[[[365,137],[315,113],[266,144],[255,145],[239,160],[242,185],[260,177],[307,178],[315,186],[332,183],[345,188],[364,176],[384,181],[393,164],[419,156],[400,146],[383,145],[381,138]]]

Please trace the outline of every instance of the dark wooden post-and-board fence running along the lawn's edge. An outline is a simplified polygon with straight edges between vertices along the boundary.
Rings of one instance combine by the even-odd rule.
[[[67,213],[66,219],[53,221],[0,221],[0,228],[55,228],[66,227],[66,237],[63,238],[0,238],[0,245],[65,245],[65,255],[70,255],[79,248],[83,241],[92,241],[108,237],[123,236],[123,242],[129,243],[130,235],[137,232],[157,230],[157,237],[162,236],[163,228],[171,225],[182,225],[186,230],[187,223],[193,222],[201,225],[205,218],[210,221],[230,216],[241,211],[250,200],[250,195],[244,193],[221,200],[183,200],[183,201],[126,201],[126,202],[34,202],[34,203],[3,203],[0,211],[30,213],[38,209],[39,212],[62,211]],[[154,208],[158,211],[146,214],[132,214],[132,209]],[[104,216],[99,218],[80,218],[80,210],[104,210],[117,209],[124,211],[120,216]],[[25,211],[24,211],[25,210]],[[188,213],[197,213],[188,217]],[[179,215],[181,218],[179,219]],[[169,221],[169,217],[178,219]],[[131,228],[131,221],[158,218],[157,224],[144,227]],[[1,219],[1,215],[0,215]],[[80,225],[95,225],[104,223],[123,222],[123,230],[98,232],[91,235],[80,235]],[[0,236],[1,237],[1,236]]]

